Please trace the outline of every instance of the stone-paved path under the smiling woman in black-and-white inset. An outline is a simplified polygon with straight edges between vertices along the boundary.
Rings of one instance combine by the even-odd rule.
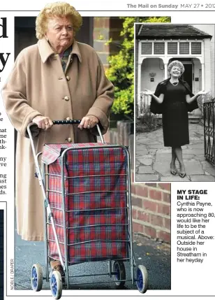
[[[135,180],[215,181],[215,167],[205,159],[204,127],[189,124],[190,144],[182,146],[186,177],[170,174],[171,148],[163,145],[163,129],[136,134]],[[179,164],[177,163],[179,170]]]

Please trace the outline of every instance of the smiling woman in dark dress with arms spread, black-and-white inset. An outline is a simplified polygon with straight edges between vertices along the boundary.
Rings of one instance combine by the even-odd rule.
[[[197,97],[205,94],[200,91],[195,96],[188,84],[179,77],[184,73],[184,66],[175,60],[168,65],[170,78],[158,83],[156,92],[144,90],[151,96],[151,112],[163,113],[163,140],[165,147],[172,147],[170,173],[177,174],[176,159],[179,162],[179,176],[186,176],[182,157],[182,145],[189,143],[188,111],[198,108]]]

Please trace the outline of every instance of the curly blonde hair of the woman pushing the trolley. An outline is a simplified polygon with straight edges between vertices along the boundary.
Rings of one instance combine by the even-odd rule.
[[[45,36],[45,32],[47,31],[47,20],[53,17],[70,18],[75,32],[82,26],[82,16],[69,3],[50,3],[47,4],[43,10],[40,10],[38,17],[36,17],[36,37],[38,40]]]

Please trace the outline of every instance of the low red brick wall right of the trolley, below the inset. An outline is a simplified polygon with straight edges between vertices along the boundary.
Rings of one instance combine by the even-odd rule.
[[[170,201],[170,183],[133,183],[133,232],[170,243]]]

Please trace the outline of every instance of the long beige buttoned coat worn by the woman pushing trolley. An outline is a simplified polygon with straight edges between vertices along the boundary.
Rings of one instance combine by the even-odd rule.
[[[46,39],[18,55],[2,92],[8,117],[17,129],[16,209],[17,233],[24,240],[43,241],[43,197],[34,177],[34,157],[27,138],[27,125],[37,115],[52,120],[82,119],[95,115],[107,131],[114,87],[105,77],[103,65],[89,45],[74,41],[65,73],[59,55]],[[35,138],[36,152],[43,143],[95,141],[95,136],[77,125],[54,125]]]

